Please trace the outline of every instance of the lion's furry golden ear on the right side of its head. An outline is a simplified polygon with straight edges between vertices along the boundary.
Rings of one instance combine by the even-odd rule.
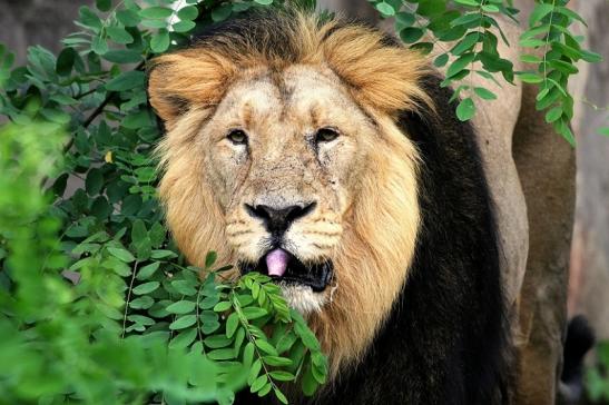
[[[421,78],[430,72],[425,57],[386,42],[375,30],[345,27],[323,42],[324,59],[361,102],[375,109],[394,113],[430,103],[420,87]]]

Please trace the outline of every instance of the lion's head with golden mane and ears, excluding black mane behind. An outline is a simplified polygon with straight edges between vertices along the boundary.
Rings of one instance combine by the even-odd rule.
[[[371,28],[291,12],[226,23],[150,68],[178,246],[276,277],[334,372],[370,344],[414,253],[418,154],[395,119],[428,102],[424,73]]]

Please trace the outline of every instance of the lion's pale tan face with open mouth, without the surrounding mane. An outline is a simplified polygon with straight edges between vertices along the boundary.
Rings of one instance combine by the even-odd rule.
[[[293,306],[318,309],[377,137],[330,70],[261,69],[237,81],[198,147],[242,270],[275,276]]]

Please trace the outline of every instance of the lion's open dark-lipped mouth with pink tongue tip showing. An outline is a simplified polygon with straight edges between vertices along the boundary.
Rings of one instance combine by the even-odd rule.
[[[296,256],[281,248],[267,251],[258,263],[240,263],[242,274],[259,271],[269,275],[279,284],[296,284],[323,292],[334,274],[331,260],[304,264]]]

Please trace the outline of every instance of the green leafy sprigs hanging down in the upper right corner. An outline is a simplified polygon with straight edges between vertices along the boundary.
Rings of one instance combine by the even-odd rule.
[[[413,48],[431,52],[441,48],[434,60],[436,67],[448,65],[446,79],[442,86],[454,85],[453,101],[462,99],[456,115],[468,120],[475,113],[474,99],[494,100],[497,96],[484,87],[474,87],[466,78],[480,75],[499,85],[495,73],[513,83],[514,75],[527,83],[538,85],[536,108],[546,110],[546,121],[556,131],[574,145],[569,128],[573,117],[573,98],[568,91],[569,77],[578,72],[576,62],[598,62],[598,53],[581,48],[583,37],[572,34],[576,22],[586,26],[583,19],[567,8],[568,0],[536,0],[528,29],[520,38],[520,47],[527,52],[520,56],[530,68],[514,71],[513,63],[498,51],[499,41],[508,46],[498,18],[518,21],[518,12],[511,0],[372,0],[376,9],[386,17],[395,17],[395,29],[400,38]],[[425,34],[429,38],[425,39]],[[423,41],[421,41],[423,39]],[[438,42],[448,42],[449,49]]]

